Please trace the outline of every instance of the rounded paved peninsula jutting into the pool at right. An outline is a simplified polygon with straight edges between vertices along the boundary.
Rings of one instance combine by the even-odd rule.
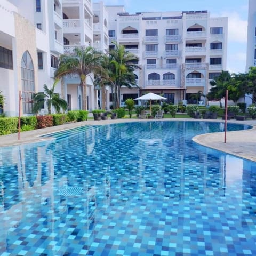
[[[247,122],[239,124],[251,125],[252,128],[227,132],[226,143],[224,132],[199,134],[192,140],[199,145],[256,162],[256,125]]]

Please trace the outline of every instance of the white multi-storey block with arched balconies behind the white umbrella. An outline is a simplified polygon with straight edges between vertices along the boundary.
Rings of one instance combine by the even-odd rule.
[[[110,48],[111,41],[125,45],[142,68],[136,71],[139,88],[123,88],[123,101],[154,92],[172,103],[195,103],[191,94],[207,94],[209,80],[226,70],[227,18],[212,18],[207,11],[129,14],[124,6],[107,9]]]

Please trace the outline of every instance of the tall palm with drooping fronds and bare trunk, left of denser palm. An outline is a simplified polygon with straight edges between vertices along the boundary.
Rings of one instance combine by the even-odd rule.
[[[87,110],[86,102],[86,77],[91,77],[93,81],[93,71],[100,66],[102,54],[95,51],[93,47],[76,47],[72,55],[61,55],[60,65],[55,72],[56,78],[61,78],[67,74],[73,73],[79,75],[80,86],[82,89],[83,109]]]

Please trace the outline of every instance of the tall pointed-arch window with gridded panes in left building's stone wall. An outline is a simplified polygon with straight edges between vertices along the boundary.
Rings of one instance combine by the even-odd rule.
[[[33,107],[33,94],[35,93],[34,65],[28,51],[21,59],[21,83],[23,114],[31,114]]]

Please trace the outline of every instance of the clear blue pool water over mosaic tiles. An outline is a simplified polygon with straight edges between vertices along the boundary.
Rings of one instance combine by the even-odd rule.
[[[134,122],[0,148],[0,255],[256,255],[256,163],[191,140],[218,131]]]

